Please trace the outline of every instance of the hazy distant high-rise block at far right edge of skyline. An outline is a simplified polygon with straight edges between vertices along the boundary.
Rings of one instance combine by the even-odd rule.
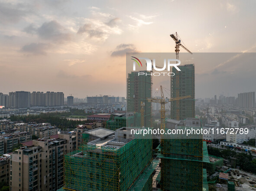
[[[238,94],[238,106],[243,108],[254,108],[255,91]]]

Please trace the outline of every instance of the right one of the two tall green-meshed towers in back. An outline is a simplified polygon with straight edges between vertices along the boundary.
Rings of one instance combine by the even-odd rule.
[[[179,69],[181,71],[172,69],[175,75],[171,77],[171,97],[190,95],[191,98],[171,102],[171,119],[179,116],[177,120],[184,120],[195,117],[194,64],[179,66]]]

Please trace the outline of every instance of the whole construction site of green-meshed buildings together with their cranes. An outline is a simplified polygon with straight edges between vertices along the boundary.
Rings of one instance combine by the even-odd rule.
[[[178,34],[170,35],[179,47],[183,47]],[[152,97],[152,76],[127,75],[126,117],[114,116],[106,128],[84,132],[84,144],[65,156],[64,189],[74,191],[105,190],[165,190],[208,191],[204,163],[210,163],[202,135],[161,135],[158,153],[152,148],[152,135],[138,137],[131,129],[152,128],[152,103],[161,105],[160,128],[201,128],[195,118],[194,64],[172,70],[170,98]],[[146,72],[146,71],[139,71]],[[171,103],[171,116],[165,117],[165,104]],[[166,126],[166,122],[169,125]]]

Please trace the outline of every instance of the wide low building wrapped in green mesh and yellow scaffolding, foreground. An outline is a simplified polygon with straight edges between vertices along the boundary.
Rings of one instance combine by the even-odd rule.
[[[116,131],[115,138],[109,135],[96,139],[65,155],[64,188],[75,191],[126,191],[133,188],[146,191],[151,188],[152,139],[126,141],[130,138],[127,129],[123,129],[123,134]]]

